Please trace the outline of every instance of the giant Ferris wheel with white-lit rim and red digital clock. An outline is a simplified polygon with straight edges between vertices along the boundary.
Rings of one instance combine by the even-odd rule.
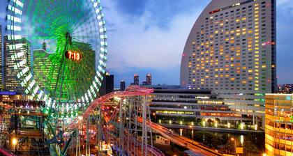
[[[15,76],[52,117],[73,118],[98,95],[107,61],[99,0],[10,0],[9,52]]]

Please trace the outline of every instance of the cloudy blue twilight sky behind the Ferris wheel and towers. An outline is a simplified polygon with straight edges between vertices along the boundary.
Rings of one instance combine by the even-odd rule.
[[[109,61],[115,77],[153,84],[179,84],[181,54],[188,34],[211,0],[100,0],[107,20]],[[0,0],[0,22],[6,0]],[[1,19],[2,18],[2,19]],[[293,1],[277,0],[278,84],[293,84]]]

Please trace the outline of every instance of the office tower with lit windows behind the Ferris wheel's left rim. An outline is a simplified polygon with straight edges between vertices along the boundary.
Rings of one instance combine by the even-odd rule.
[[[4,36],[4,68],[3,79],[6,91],[24,93],[24,88],[17,79],[17,74],[25,66],[31,65],[31,43],[26,38],[11,40],[11,36]],[[18,63],[18,65],[16,65]],[[16,66],[18,66],[16,68]]]

